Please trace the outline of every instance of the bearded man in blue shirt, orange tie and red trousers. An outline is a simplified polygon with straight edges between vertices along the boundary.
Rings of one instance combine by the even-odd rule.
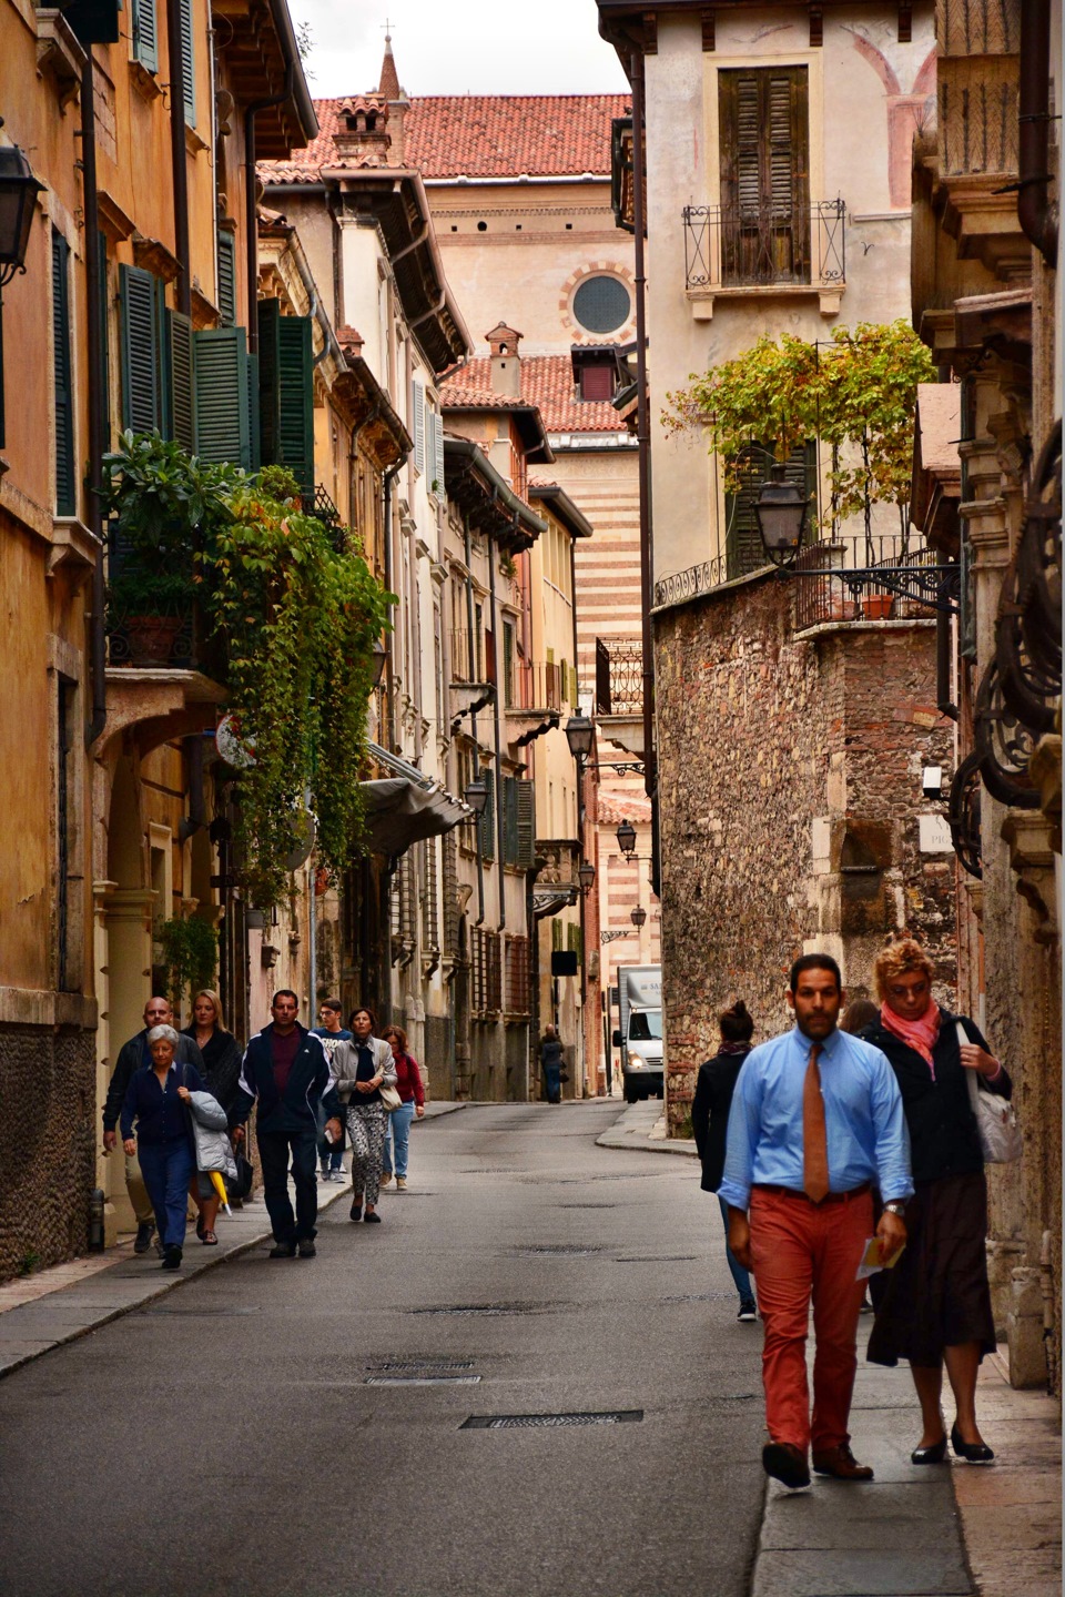
[[[894,1070],[878,1048],[837,1030],[840,968],[827,953],[795,960],[787,1001],[795,1028],[746,1059],[728,1116],[728,1246],[754,1271],[765,1322],[762,1380],[768,1476],[810,1485],[818,1474],[872,1480],[851,1453],[848,1417],[857,1367],[856,1279],[877,1226],[886,1263],[905,1242],[910,1150]],[[806,1386],[806,1329],[814,1306],[814,1402]]]

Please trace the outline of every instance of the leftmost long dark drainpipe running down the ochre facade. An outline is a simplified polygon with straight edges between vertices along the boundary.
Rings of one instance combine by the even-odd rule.
[[[89,391],[89,470],[88,470],[88,524],[89,532],[101,540],[93,565],[93,624],[89,632],[89,661],[93,668],[93,714],[85,728],[85,744],[91,747],[107,723],[107,634],[104,608],[107,591],[104,585],[104,519],[101,492],[104,485],[104,450],[107,447],[107,388],[104,385],[104,340],[101,337],[101,222],[96,198],[96,101],[93,99],[93,46],[85,46],[81,69],[81,185],[85,195],[85,318]]]

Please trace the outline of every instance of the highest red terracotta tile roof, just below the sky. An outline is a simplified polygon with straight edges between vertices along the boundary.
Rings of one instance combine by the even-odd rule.
[[[260,161],[263,180],[315,182],[319,168],[345,164],[334,134],[346,104],[315,101],[318,137],[287,161]],[[607,177],[610,123],[629,109],[626,94],[425,94],[404,120],[406,164],[423,177]]]

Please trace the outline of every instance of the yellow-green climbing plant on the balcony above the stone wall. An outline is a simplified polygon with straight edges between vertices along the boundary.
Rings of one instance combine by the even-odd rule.
[[[870,505],[897,506],[909,532],[917,385],[934,383],[932,358],[905,321],[835,327],[825,343],[784,334],[669,393],[663,423],[699,428],[723,468],[725,489],[739,487],[752,444],[779,462],[806,439],[830,447],[827,525]]]

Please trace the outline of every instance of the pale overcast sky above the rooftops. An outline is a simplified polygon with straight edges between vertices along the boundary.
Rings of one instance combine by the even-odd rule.
[[[311,29],[305,61],[316,99],[377,86],[391,21],[407,94],[624,94],[618,57],[599,37],[596,0],[289,0]]]

